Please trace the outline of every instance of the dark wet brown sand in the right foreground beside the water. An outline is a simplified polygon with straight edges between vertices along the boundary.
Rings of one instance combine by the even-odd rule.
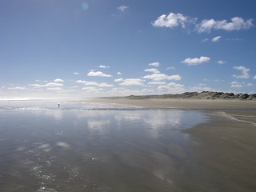
[[[210,122],[185,130],[198,143],[190,149],[199,166],[190,171],[205,175],[213,191],[256,191],[256,110],[209,115]]]

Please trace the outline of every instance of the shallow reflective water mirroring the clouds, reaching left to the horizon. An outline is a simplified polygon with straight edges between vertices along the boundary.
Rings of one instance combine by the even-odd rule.
[[[60,105],[58,105],[60,104]],[[0,102],[0,191],[179,191],[200,110]]]

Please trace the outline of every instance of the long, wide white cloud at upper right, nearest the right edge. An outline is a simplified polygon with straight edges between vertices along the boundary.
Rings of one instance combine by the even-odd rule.
[[[214,19],[204,19],[200,24],[196,26],[196,30],[199,33],[210,32],[211,30],[245,30],[254,26],[253,20],[243,20],[239,17],[231,18],[231,22],[226,20],[215,21]]]

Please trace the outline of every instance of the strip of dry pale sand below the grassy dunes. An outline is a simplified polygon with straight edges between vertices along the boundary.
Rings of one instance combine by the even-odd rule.
[[[256,110],[256,101],[239,100],[95,98],[85,102],[94,102],[114,106],[134,106],[160,109]]]

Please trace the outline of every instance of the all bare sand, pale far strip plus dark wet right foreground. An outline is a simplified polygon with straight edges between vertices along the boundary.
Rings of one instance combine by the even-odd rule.
[[[256,191],[256,102],[236,100],[94,99],[116,106],[205,110],[209,122],[184,130],[194,141],[196,165],[183,165],[180,186],[193,191]],[[190,175],[197,176],[190,177]],[[202,177],[203,176],[203,177]],[[203,186],[198,186],[202,179]],[[191,184],[192,183],[192,184]],[[210,190],[209,190],[210,189]],[[192,190],[191,190],[192,191]]]

